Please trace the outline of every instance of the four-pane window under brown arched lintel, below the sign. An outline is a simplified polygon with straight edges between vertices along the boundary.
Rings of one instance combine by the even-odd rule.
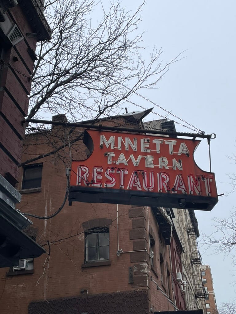
[[[85,232],[85,263],[109,260],[109,229]]]

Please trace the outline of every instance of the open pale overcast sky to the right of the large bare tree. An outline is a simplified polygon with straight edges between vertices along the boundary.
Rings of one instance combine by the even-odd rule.
[[[122,2],[128,8],[140,1]],[[230,192],[229,173],[235,165],[227,158],[235,153],[235,24],[236,1],[219,0],[147,0],[142,12],[139,30],[145,30],[146,51],[155,45],[162,47],[163,62],[181,51],[183,60],[173,64],[160,81],[160,89],[143,90],[142,95],[193,124],[205,133],[216,133],[211,140],[212,171],[216,174],[218,194]],[[150,108],[149,102],[136,102]],[[128,105],[127,105],[128,106]],[[132,111],[134,107],[128,106]],[[137,110],[140,110],[136,108]],[[165,115],[155,108],[156,112]],[[158,119],[149,114],[147,120]],[[171,116],[168,118],[172,119]],[[176,125],[177,131],[182,131]],[[185,132],[188,132],[185,129]],[[197,164],[209,171],[207,140],[202,140],[196,152]],[[235,194],[219,198],[211,212],[196,212],[199,231],[210,235],[213,217],[226,218],[236,204]],[[200,249],[203,253],[203,248]],[[233,265],[230,257],[211,255],[207,250],[203,263],[212,270],[217,306],[235,298],[232,282]]]

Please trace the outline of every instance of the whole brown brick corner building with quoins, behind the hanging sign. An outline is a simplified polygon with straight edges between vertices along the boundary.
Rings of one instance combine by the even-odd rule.
[[[148,112],[103,123],[142,126]],[[71,159],[87,156],[82,134],[82,128],[53,126],[24,141],[19,209],[40,218],[27,215],[34,222],[29,231],[48,254],[26,259],[21,269],[2,269],[1,313],[141,314],[188,309],[184,248],[173,224],[173,209],[80,202],[69,206],[66,168]],[[196,302],[194,309],[201,309],[201,304]]]

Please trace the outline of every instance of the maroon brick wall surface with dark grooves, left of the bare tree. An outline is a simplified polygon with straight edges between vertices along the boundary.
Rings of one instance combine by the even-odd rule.
[[[17,24],[24,39],[14,46],[3,46],[1,56],[5,63],[2,70],[0,69],[0,174],[5,176],[9,172],[18,181],[21,141],[25,133],[22,121],[28,111],[30,77],[34,63],[27,49],[35,51],[36,40],[26,35],[32,29],[19,5],[9,9],[8,14],[12,22]],[[1,38],[0,40],[2,41]],[[18,60],[14,62],[13,57]]]

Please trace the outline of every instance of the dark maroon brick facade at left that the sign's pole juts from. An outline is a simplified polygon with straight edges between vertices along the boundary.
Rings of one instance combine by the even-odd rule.
[[[34,25],[37,24],[37,17],[34,23],[31,17],[35,15],[37,6],[39,9],[42,4],[35,3],[36,7],[33,8],[31,1],[18,1],[18,4],[12,1],[15,6],[9,8],[10,2],[0,1],[0,11],[4,14],[0,25],[0,174],[14,185],[19,180],[18,165],[25,133],[22,121],[27,116],[35,49],[40,39],[27,34],[36,32]],[[30,19],[27,14],[31,15]],[[16,43],[8,38],[8,33],[14,27],[21,37]],[[40,29],[37,32],[40,33]]]

